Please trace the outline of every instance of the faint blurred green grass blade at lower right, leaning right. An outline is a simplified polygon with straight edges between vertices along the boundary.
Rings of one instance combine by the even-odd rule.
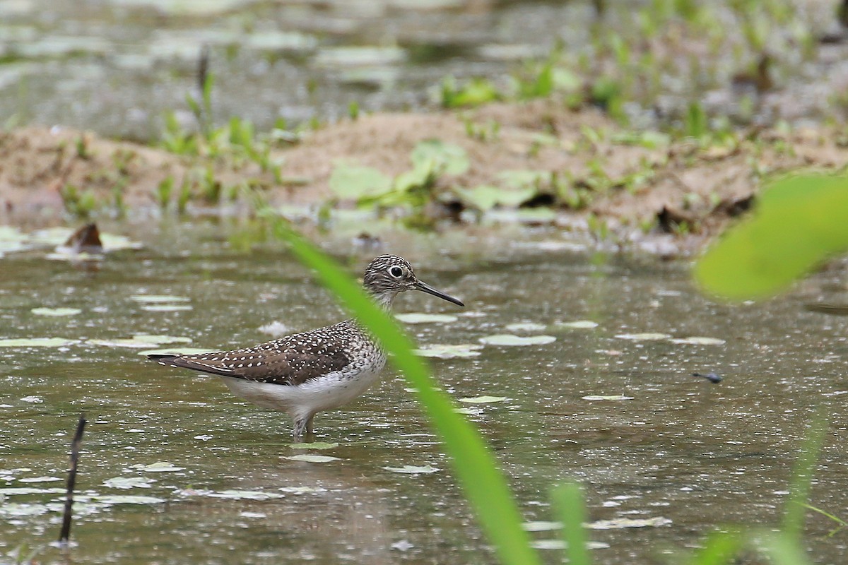
[[[789,499],[784,508],[783,532],[794,536],[796,540],[801,539],[806,515],[805,505],[810,494],[812,474],[816,470],[818,453],[822,450],[824,434],[828,430],[828,420],[825,418],[825,414],[826,411],[823,408],[817,410],[810,430],[804,439],[801,456],[795,462],[792,481],[789,485]]]

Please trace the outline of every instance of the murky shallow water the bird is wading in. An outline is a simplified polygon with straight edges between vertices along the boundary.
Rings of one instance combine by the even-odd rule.
[[[295,331],[343,316],[282,246],[234,252],[222,241],[229,229],[196,223],[135,234],[146,247],[111,253],[97,272],[47,260],[38,250],[0,259],[0,339],[75,341],[0,348],[0,489],[62,487],[70,435],[85,413],[78,493],[162,502],[78,504],[71,533],[78,546],[69,561],[495,562],[438,441],[393,371],[359,402],[315,418],[315,439],[338,446],[304,451],[289,446],[284,414],[230,396],[216,379],[149,363],[139,349],[86,344],[144,333],[228,348],[269,339],[258,328],[274,321]],[[463,406],[494,447],[527,521],[554,519],[551,487],[577,479],[593,523],[663,524],[591,530],[592,540],[608,546],[594,551],[598,563],[662,559],[724,524],[778,523],[805,426],[822,402],[832,402],[833,417],[811,502],[845,518],[848,457],[840,446],[848,424],[841,403],[848,393],[848,318],[804,308],[844,290],[838,271],[818,274],[787,297],[730,307],[700,296],[685,262],[550,251],[561,241],[553,231],[512,235],[504,246],[471,232],[407,234],[387,238],[396,243],[384,251],[409,258],[422,280],[466,302],[460,310],[432,296],[400,296],[399,312],[458,317],[410,324],[422,346],[477,343],[521,322],[547,327],[516,334],[555,336],[548,345],[485,346],[479,357],[432,360],[456,399],[506,397]],[[344,241],[326,245],[357,271],[375,254]],[[192,309],[151,312],[130,299],[138,294],[187,296]],[[81,313],[51,318],[34,315],[33,307]],[[598,326],[550,325],[574,320]],[[616,337],[644,332],[725,342]],[[711,384],[693,372],[723,380]],[[304,452],[338,459],[286,458]],[[133,467],[159,462],[174,469]],[[437,470],[386,469],[407,465]],[[43,477],[56,479],[27,482]],[[126,490],[104,485],[115,477],[155,482]],[[259,495],[244,491],[272,498],[254,500],[246,496]],[[10,514],[60,500],[53,492],[7,495],[0,503],[0,555],[21,543],[53,541],[59,512]],[[848,533],[825,537],[834,526],[808,518],[816,562],[848,555]],[[533,534],[540,541],[556,537]],[[558,551],[541,551],[558,562]],[[66,559],[51,547],[38,558]]]

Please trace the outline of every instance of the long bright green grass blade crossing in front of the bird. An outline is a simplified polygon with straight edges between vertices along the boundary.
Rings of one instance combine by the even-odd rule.
[[[527,532],[522,529],[521,514],[492,452],[477,429],[456,413],[449,396],[434,387],[427,366],[412,352],[413,344],[404,331],[365,296],[360,285],[303,236],[293,231],[285,220],[275,219],[267,209],[260,213],[274,222],[276,237],[288,243],[301,263],[315,269],[338,301],[354,314],[365,329],[377,336],[388,352],[393,353],[395,367],[416,388],[418,401],[444,441],[460,485],[501,562],[509,565],[538,563],[538,555],[529,544]]]

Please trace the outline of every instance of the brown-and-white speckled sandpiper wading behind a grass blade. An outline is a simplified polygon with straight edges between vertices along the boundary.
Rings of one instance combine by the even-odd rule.
[[[365,291],[389,309],[399,292],[418,290],[463,306],[416,278],[395,255],[369,263]],[[223,379],[233,394],[294,418],[294,438],[311,433],[315,413],[342,406],[377,382],[386,354],[353,320],[285,335],[257,346],[198,355],[150,355],[163,365],[190,368]]]

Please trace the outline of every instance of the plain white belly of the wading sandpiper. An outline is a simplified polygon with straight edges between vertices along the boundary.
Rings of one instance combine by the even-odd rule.
[[[361,368],[358,374],[345,371],[310,379],[303,385],[274,385],[253,380],[220,377],[232,394],[264,408],[282,410],[293,418],[347,404],[360,396],[380,377],[386,360],[377,359]]]

